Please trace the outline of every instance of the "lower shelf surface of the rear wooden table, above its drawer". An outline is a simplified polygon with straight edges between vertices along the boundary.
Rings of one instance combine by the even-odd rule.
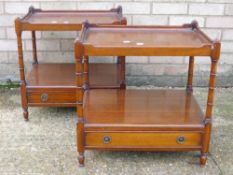
[[[89,64],[90,88],[120,87],[118,64]],[[75,64],[33,65],[27,75],[27,88],[75,88]]]

